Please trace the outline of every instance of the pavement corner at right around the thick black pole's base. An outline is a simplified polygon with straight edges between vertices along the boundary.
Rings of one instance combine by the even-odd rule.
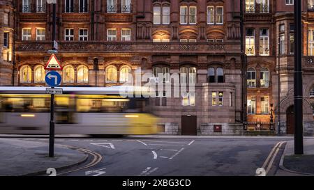
[[[287,141],[278,175],[314,175],[314,139],[304,139],[304,155],[294,155],[294,141]]]

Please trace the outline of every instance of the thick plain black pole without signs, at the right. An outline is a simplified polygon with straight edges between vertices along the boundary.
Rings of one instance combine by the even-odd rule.
[[[294,154],[303,155],[303,81],[301,58],[301,0],[294,1]]]

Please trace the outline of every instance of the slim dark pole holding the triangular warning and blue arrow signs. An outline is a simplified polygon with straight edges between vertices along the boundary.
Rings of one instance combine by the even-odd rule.
[[[56,39],[56,17],[56,3],[52,3],[52,49]],[[50,99],[49,157],[54,157],[54,95]]]

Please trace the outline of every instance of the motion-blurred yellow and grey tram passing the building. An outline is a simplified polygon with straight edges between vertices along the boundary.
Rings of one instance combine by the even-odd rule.
[[[63,94],[55,95],[56,134],[158,132],[158,118],[150,113],[148,99],[121,96],[121,86],[60,88]],[[0,87],[0,134],[49,134],[50,95],[45,90]]]

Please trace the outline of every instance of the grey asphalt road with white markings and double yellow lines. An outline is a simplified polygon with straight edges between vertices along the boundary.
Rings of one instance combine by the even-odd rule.
[[[27,138],[27,141],[48,141]],[[56,138],[55,143],[97,152],[94,160],[57,173],[63,176],[254,176],[264,165],[274,175],[283,138]],[[271,155],[270,153],[273,152]],[[276,153],[276,155],[274,154]],[[63,173],[63,174],[62,174]]]

